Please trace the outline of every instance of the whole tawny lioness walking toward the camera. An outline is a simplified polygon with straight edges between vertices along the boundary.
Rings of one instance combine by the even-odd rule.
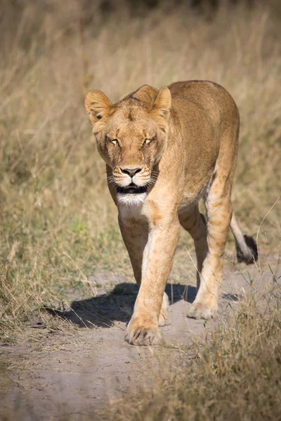
[[[116,104],[91,91],[85,105],[139,286],[126,340],[153,345],[167,320],[164,289],[180,226],[197,255],[197,296],[188,317],[216,315],[229,226],[238,260],[257,258],[231,205],[239,113],[230,94],[209,81],[176,82],[159,91],[145,85]],[[201,198],[207,224],[198,210]]]

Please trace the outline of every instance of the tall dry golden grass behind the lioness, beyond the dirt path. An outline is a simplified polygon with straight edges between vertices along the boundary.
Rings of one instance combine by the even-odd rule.
[[[0,330],[100,268],[131,276],[84,110],[98,88],[114,101],[143,83],[209,79],[240,109],[233,202],[254,234],[280,195],[280,21],[261,4],[222,6],[212,20],[189,8],[129,18],[81,2],[2,1],[0,60]],[[87,18],[87,13],[91,19]],[[276,245],[280,203],[261,229]],[[248,228],[251,227],[251,228]],[[186,240],[185,240],[186,241]],[[84,284],[83,284],[84,286]],[[86,287],[83,287],[86,291]],[[91,293],[91,290],[89,290]]]

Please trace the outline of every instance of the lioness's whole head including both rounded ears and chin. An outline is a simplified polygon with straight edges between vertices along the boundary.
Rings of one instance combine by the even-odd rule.
[[[168,88],[162,88],[152,104],[129,98],[112,105],[100,91],[87,95],[98,152],[112,168],[110,182],[117,192],[145,192],[155,182],[153,168],[166,146],[170,107]]]

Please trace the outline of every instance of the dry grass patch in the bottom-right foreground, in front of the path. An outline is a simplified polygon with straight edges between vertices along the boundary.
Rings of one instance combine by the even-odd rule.
[[[274,305],[265,316],[248,302],[210,341],[188,349],[176,374],[164,370],[153,389],[112,403],[99,419],[280,420],[280,297]]]

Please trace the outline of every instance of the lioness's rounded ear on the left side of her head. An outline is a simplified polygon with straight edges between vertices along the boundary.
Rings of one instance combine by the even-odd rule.
[[[85,100],[85,107],[89,113],[91,123],[94,124],[96,121],[106,118],[110,109],[112,108],[112,102],[107,96],[100,91],[90,91]]]

